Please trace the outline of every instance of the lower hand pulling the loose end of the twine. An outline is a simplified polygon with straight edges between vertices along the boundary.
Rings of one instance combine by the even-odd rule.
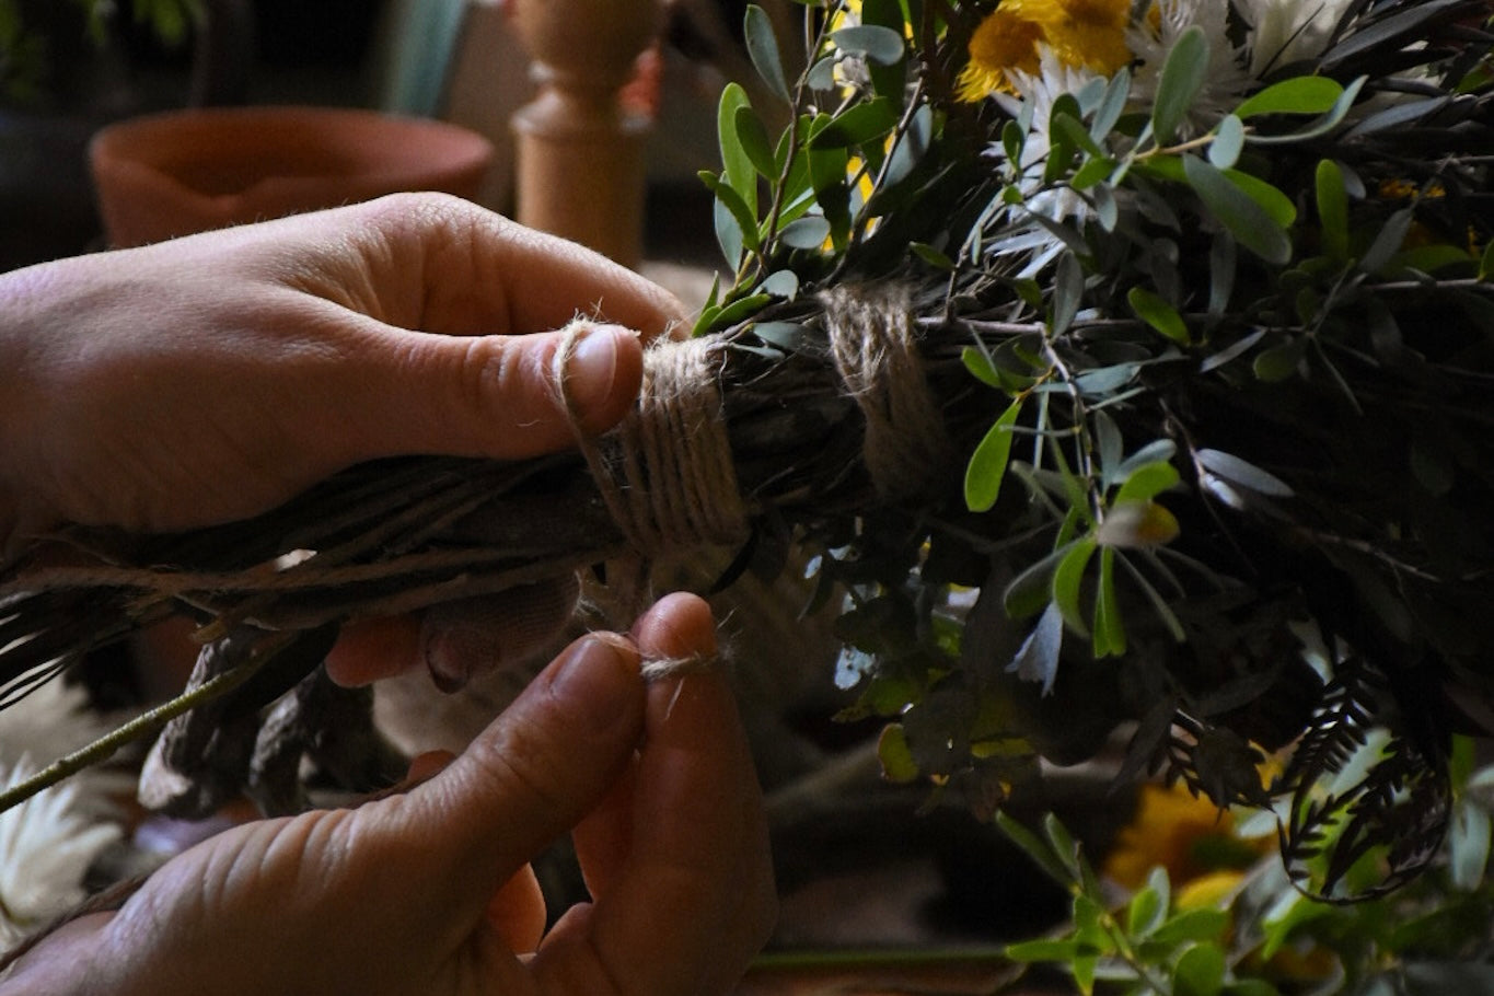
[[[638,670],[713,650],[693,596],[630,639],[583,638],[439,775],[229,830],[51,936],[0,992],[726,992],[775,911],[747,745],[719,675],[645,688]],[[572,827],[595,900],[541,936],[526,862]]]

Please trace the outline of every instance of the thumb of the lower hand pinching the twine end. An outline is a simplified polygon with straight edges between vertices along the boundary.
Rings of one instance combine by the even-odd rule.
[[[462,911],[457,921],[480,917],[502,883],[596,808],[633,756],[644,708],[636,647],[583,636],[441,775],[375,803],[388,811],[371,832],[420,841],[409,856],[420,877]]]

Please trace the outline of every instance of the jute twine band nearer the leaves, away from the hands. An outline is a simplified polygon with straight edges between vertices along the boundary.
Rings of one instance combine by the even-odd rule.
[[[867,420],[862,458],[877,494],[896,500],[928,487],[953,445],[929,393],[902,284],[844,284],[819,296],[831,357]]]

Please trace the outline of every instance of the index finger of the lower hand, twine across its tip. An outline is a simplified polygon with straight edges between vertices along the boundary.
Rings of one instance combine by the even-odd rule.
[[[672,597],[635,629],[644,654],[713,650],[704,603]],[[635,774],[624,863],[592,908],[557,924],[535,971],[574,980],[595,959],[627,993],[723,992],[766,941],[777,899],[762,794],[720,675],[650,688]]]

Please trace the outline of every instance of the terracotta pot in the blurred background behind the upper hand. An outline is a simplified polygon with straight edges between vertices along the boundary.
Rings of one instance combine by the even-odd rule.
[[[351,108],[173,111],[90,143],[105,234],[120,248],[397,191],[475,200],[492,160],[475,131]]]

